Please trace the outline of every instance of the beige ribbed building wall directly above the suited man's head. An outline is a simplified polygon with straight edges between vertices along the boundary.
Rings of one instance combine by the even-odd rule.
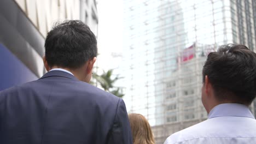
[[[44,37],[54,22],[80,19],[79,0],[15,0]]]

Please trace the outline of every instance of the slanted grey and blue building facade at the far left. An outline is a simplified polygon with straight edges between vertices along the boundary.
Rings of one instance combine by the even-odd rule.
[[[44,73],[44,37],[15,1],[0,1],[0,91]]]

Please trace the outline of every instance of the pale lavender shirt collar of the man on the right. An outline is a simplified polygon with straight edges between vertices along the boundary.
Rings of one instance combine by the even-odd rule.
[[[220,104],[213,107],[208,115],[208,119],[223,116],[249,117],[255,119],[248,106],[235,103]]]

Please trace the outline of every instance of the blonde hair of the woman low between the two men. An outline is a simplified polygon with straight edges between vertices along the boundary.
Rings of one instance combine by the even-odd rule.
[[[154,136],[148,120],[138,113],[130,113],[129,121],[133,137],[133,144],[154,144]]]

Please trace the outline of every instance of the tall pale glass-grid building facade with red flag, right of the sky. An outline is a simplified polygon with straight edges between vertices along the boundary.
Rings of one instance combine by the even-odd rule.
[[[147,117],[156,143],[207,118],[206,57],[229,43],[255,51],[255,15],[253,0],[124,1],[124,99]]]

